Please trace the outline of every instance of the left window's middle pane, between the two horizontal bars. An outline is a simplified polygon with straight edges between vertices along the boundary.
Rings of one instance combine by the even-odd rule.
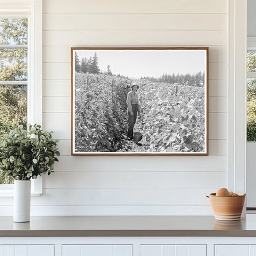
[[[27,49],[0,49],[0,81],[26,81],[28,79]]]

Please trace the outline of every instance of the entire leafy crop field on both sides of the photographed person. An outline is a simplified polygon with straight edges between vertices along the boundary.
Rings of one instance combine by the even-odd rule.
[[[127,84],[106,74],[76,73],[76,152],[202,152],[205,147],[204,87],[140,79],[141,113],[134,131],[140,143],[126,140]]]

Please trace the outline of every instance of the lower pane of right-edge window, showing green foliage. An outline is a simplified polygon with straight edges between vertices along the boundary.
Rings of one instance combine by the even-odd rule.
[[[256,78],[247,78],[247,142],[256,142]]]

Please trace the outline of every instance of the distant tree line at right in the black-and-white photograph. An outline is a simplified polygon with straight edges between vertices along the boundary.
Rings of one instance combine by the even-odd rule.
[[[183,84],[185,86],[204,86],[204,72],[201,71],[196,74],[162,74],[159,78],[142,77],[141,79],[148,79],[151,82],[165,82],[168,84]]]

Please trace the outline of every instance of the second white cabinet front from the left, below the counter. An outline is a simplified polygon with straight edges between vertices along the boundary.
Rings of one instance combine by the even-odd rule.
[[[131,256],[132,245],[63,245],[62,256]]]

